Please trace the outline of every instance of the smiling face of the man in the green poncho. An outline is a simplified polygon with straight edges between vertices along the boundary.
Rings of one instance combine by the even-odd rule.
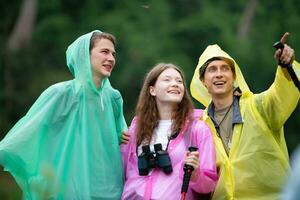
[[[115,46],[106,39],[97,39],[90,51],[90,59],[93,71],[93,78],[102,80],[111,75],[115,66]]]

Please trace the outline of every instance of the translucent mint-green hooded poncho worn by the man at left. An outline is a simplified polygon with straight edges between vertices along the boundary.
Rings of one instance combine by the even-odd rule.
[[[120,199],[123,100],[108,79],[94,85],[93,32],[68,47],[75,79],[46,89],[0,143],[0,164],[24,199]]]

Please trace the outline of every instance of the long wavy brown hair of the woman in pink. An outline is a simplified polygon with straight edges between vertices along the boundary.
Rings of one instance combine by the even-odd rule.
[[[191,120],[193,104],[186,89],[185,79],[182,71],[171,63],[158,63],[146,75],[142,90],[136,106],[137,119],[137,146],[142,142],[150,143],[152,134],[158,125],[159,113],[155,97],[150,94],[150,86],[154,86],[159,75],[166,69],[175,69],[179,72],[184,84],[184,95],[182,101],[174,108],[172,113],[172,134],[179,132],[186,120]]]

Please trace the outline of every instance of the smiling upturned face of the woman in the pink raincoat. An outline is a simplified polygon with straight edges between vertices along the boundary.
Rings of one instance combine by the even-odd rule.
[[[179,104],[184,95],[184,84],[180,73],[168,68],[157,78],[154,86],[150,86],[150,94],[157,103]]]

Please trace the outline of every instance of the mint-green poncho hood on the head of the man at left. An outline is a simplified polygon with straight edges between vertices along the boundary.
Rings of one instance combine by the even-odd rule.
[[[67,49],[67,65],[75,81],[95,93],[99,93],[104,87],[111,87],[108,78],[102,80],[101,86],[97,89],[92,76],[92,65],[90,61],[90,40],[94,30],[77,38]]]

